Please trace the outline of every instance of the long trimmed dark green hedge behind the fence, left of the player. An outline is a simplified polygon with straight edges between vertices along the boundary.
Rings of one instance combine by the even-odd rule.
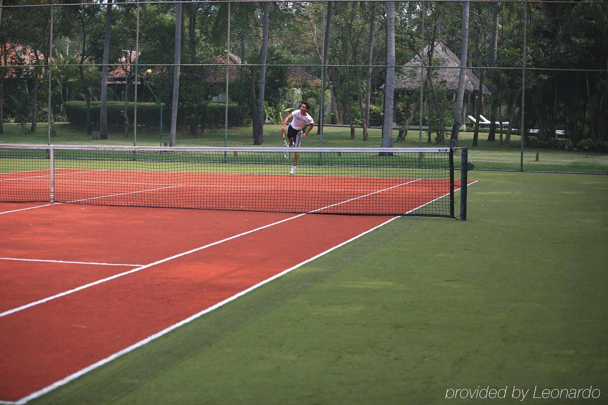
[[[133,121],[135,103],[127,103],[126,111],[130,121]],[[224,103],[201,102],[196,104],[181,105],[178,107],[178,125],[187,125],[196,120],[203,128],[224,126],[224,114],[226,105]],[[91,125],[99,125],[101,102],[91,103]],[[125,123],[123,111],[124,102],[108,102],[108,125],[120,126]],[[75,126],[84,128],[86,125],[86,102],[71,101],[64,103],[64,111],[67,120]],[[250,122],[248,109],[241,108],[237,103],[228,104],[228,125],[245,126]],[[156,103],[137,103],[137,125],[158,126],[161,116],[161,108]],[[162,120],[164,126],[171,125],[170,106],[163,105]]]

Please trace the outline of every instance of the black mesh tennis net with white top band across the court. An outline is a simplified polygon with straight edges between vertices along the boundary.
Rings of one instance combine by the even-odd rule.
[[[465,219],[461,152],[0,145],[0,201]]]

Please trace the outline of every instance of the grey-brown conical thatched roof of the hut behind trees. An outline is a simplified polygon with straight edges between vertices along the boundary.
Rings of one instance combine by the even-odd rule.
[[[425,64],[428,63],[428,52],[429,46],[424,48]],[[445,46],[445,44],[436,43],[433,59],[435,63],[438,63],[439,66],[441,66],[438,69],[432,70],[435,83],[443,82],[443,88],[450,92],[457,92],[460,69],[454,68],[460,67],[460,58]],[[424,70],[426,74],[426,69]],[[466,69],[465,78],[465,94],[472,94],[472,92],[479,89],[479,78],[473,74],[471,69]],[[420,91],[420,56],[416,55],[405,65],[405,67],[397,69],[395,76],[395,91]],[[489,94],[489,89],[483,85],[483,95]]]

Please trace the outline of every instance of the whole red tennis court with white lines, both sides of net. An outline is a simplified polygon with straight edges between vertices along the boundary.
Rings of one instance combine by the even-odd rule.
[[[134,159],[129,148],[103,156],[60,150],[2,149],[0,334],[11,336],[0,349],[5,403],[67,383],[396,214],[454,217],[460,190],[446,150],[435,151],[441,157],[429,151],[418,166],[410,161],[421,161],[418,151],[370,152],[364,161],[382,160],[375,165],[362,164],[361,151],[334,155],[346,159],[340,164],[326,154],[325,165],[291,177],[274,150],[256,151],[255,159],[213,155],[223,162],[192,154],[201,151],[167,161],[163,154]]]

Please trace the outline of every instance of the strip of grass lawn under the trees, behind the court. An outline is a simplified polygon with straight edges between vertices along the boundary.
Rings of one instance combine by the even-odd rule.
[[[133,134],[125,137],[122,132],[110,132],[106,140],[92,140],[86,133],[71,128],[68,124],[57,124],[57,137],[51,139],[55,145],[133,145]],[[26,133],[21,136],[20,127],[17,124],[5,123],[4,134],[0,134],[0,143],[3,144],[47,144],[48,126],[46,123],[38,124],[35,134]],[[233,147],[253,146],[251,128],[229,128],[227,131],[227,144]],[[397,131],[394,131],[394,139],[397,139]],[[168,142],[169,131],[165,130],[162,140],[159,128],[138,128],[137,145],[159,146]],[[478,146],[473,148],[470,132],[460,134],[460,146],[469,147],[469,159],[477,169],[487,170],[520,170],[521,153],[520,137],[514,136],[508,148],[499,147],[499,142],[488,142],[487,134],[480,133]],[[356,128],[355,139],[351,139],[350,128],[325,126],[323,129],[323,147],[380,147],[382,131],[371,128],[369,140],[363,142],[361,128]],[[423,132],[423,147],[438,147],[435,142],[427,143],[427,135]],[[263,147],[282,146],[283,140],[280,135],[279,125],[264,126]],[[309,136],[303,140],[304,147],[318,147],[319,136],[314,129]],[[198,137],[190,136],[187,128],[180,128],[176,140],[177,146],[224,146],[224,128],[204,130],[199,132]],[[418,147],[418,131],[409,131],[404,142],[395,142],[395,147]],[[536,154],[539,153],[539,160]],[[525,148],[523,153],[523,169],[528,171],[565,171],[577,173],[608,173],[608,154],[585,153],[575,151],[539,150]]]

